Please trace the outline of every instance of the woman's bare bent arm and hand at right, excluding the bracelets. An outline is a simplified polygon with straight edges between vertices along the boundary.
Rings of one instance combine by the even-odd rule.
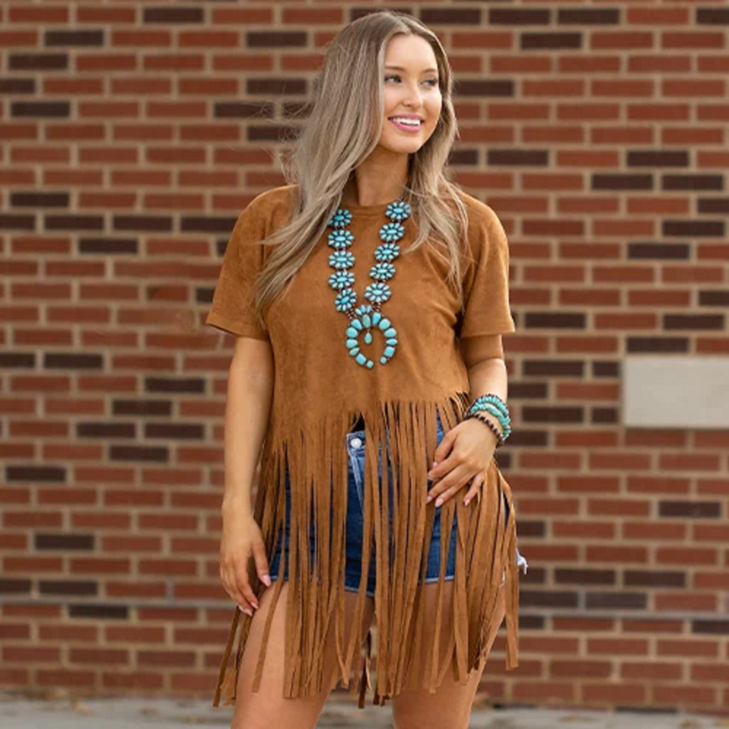
[[[461,353],[468,371],[471,399],[494,393],[506,402],[508,383],[502,335],[461,340]],[[491,420],[496,422],[495,418]],[[478,418],[467,418],[451,428],[435,449],[434,463],[428,472],[434,486],[429,489],[426,502],[436,499],[435,505],[439,507],[470,485],[464,496],[464,504],[468,504],[481,488],[494,451],[496,435]]]

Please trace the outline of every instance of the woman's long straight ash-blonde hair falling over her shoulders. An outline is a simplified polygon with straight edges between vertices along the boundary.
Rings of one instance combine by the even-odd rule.
[[[451,264],[447,283],[462,301],[459,256],[465,252],[467,210],[459,198],[461,188],[447,177],[448,155],[458,136],[451,101],[453,74],[440,40],[429,28],[411,15],[383,10],[348,23],[332,39],[314,80],[313,99],[305,109],[308,119],[284,165],[286,184],[297,186],[292,188],[292,216],[261,241],[275,246],[256,282],[255,305],[262,327],[262,312],[303,265],[339,207],[354,169],[378,145],[385,113],[385,50],[397,34],[417,35],[430,44],[443,99],[432,136],[408,160],[403,199],[413,208],[418,236],[403,253],[429,239],[436,249],[445,249]]]

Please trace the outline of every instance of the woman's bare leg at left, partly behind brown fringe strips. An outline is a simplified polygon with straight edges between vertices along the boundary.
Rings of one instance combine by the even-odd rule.
[[[266,588],[259,601],[260,607],[254,612],[251,631],[246,642],[246,649],[241,659],[241,668],[238,673],[238,687],[235,697],[235,712],[231,729],[308,729],[316,727],[316,720],[321,714],[324,702],[327,701],[329,690],[304,698],[284,698],[284,633],[286,628],[286,596],[289,582],[284,582],[281,594],[278,596],[276,612],[273,615],[270,633],[268,634],[268,648],[261,678],[260,689],[252,691],[253,677],[256,670],[258,653],[261,647],[263,628],[266,615],[271,605],[275,583]],[[344,593],[344,636],[349,636],[354,620],[356,593]],[[362,625],[360,629],[359,645],[367,636],[375,610],[375,601],[365,598]],[[325,663],[325,677],[333,676],[332,671],[336,664],[336,643],[334,630],[330,631],[327,640],[327,659]],[[357,652],[355,656],[359,656]],[[359,665],[355,663],[355,666]],[[355,676],[357,671],[354,671]]]

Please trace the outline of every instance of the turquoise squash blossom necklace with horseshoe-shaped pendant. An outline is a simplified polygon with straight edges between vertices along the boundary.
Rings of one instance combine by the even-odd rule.
[[[360,335],[364,334],[365,344],[371,344],[373,328],[379,329],[383,333],[385,347],[380,357],[380,364],[387,364],[395,354],[397,347],[397,330],[392,326],[392,322],[382,315],[381,306],[392,293],[385,281],[389,281],[395,275],[395,267],[392,262],[400,254],[400,246],[397,245],[397,241],[405,235],[402,221],[410,217],[410,212],[410,206],[402,198],[387,206],[385,214],[392,222],[386,223],[380,228],[380,238],[383,243],[375,249],[375,260],[378,263],[370,268],[370,278],[373,278],[375,282],[368,284],[364,289],[364,298],[369,300],[372,305],[356,306],[354,273],[348,270],[354,266],[355,261],[354,254],[347,250],[354,241],[354,235],[346,230],[346,227],[352,222],[351,212],[347,208],[338,208],[327,223],[329,227],[334,228],[329,234],[328,241],[329,245],[335,249],[335,252],[329,257],[329,265],[335,269],[335,273],[332,273],[329,278],[329,284],[332,289],[339,292],[334,302],[337,311],[343,311],[349,319],[345,346],[357,364],[368,367],[370,370],[375,363],[359,350]]]

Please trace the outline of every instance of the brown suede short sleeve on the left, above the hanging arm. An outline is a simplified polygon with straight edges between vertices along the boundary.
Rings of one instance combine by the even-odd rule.
[[[264,262],[265,217],[256,200],[238,216],[205,323],[240,337],[269,340],[255,311],[254,284]]]

